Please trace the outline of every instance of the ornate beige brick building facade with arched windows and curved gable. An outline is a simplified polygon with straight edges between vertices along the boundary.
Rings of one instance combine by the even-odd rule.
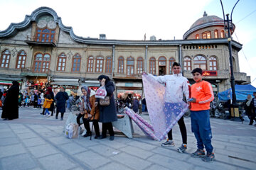
[[[64,26],[52,8],[37,8],[21,23],[0,31],[0,84],[17,80],[22,89],[46,85],[79,89],[81,84],[97,88],[97,77],[106,74],[114,80],[116,94],[143,94],[142,72],[172,74],[172,63],[180,62],[191,84],[191,70],[201,67],[214,91],[224,91],[230,88],[230,67],[223,28],[221,18],[205,13],[183,40],[82,38]],[[250,83],[239,69],[242,45],[232,40],[232,48],[235,83]]]

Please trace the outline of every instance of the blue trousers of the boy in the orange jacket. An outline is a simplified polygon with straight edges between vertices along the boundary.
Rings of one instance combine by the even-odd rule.
[[[197,140],[198,149],[206,147],[207,153],[213,152],[211,145],[212,132],[210,129],[210,112],[191,111],[191,129]]]

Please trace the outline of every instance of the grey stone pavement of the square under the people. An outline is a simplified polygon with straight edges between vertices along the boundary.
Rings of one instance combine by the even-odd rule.
[[[161,147],[137,125],[134,131],[139,135],[133,139],[116,135],[114,141],[108,137],[70,140],[63,135],[67,113],[60,121],[45,118],[40,111],[20,108],[19,119],[0,120],[0,169],[256,169],[256,127],[248,123],[212,118],[216,160],[206,163],[190,157],[196,151],[190,118],[185,118],[188,150],[180,154],[176,151],[181,145],[178,125],[173,130],[176,147]],[[146,113],[142,117],[149,120]]]

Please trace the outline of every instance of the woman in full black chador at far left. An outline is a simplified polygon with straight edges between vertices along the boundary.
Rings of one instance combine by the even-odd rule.
[[[12,81],[12,85],[7,91],[1,115],[1,118],[4,120],[13,120],[18,118],[18,86],[18,81]]]

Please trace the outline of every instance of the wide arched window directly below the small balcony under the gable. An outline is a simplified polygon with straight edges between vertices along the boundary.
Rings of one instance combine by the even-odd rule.
[[[50,55],[37,53],[34,61],[34,72],[48,72],[50,67]]]

